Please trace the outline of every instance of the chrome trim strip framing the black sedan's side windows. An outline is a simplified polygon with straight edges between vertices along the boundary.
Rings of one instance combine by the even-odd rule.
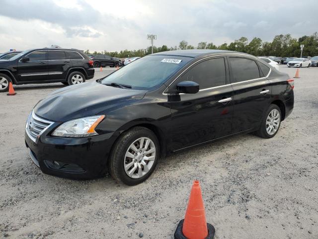
[[[203,61],[203,60],[205,60],[205,59],[209,59],[209,58],[213,58],[213,57],[220,57],[220,56],[230,56],[230,57],[231,57],[231,56],[234,56],[234,57],[241,57],[241,58],[249,58],[249,59],[252,59],[252,60],[254,60],[254,61],[258,61],[258,62],[262,63],[262,62],[259,61],[258,59],[255,59],[255,58],[250,57],[250,56],[240,56],[240,55],[216,55],[216,56],[208,56],[208,57],[205,57],[205,58],[203,58],[203,59],[200,59],[200,60],[194,62],[193,64],[191,64],[190,66],[188,66],[184,71],[182,71],[182,72],[165,88],[165,90],[162,92],[162,95],[170,95],[170,94],[164,93],[164,92],[169,88],[169,86],[171,86],[171,85],[173,84],[173,82],[175,82],[175,81],[176,81],[184,72],[186,72],[191,66],[193,66],[194,64],[196,64],[196,63],[198,63],[198,62],[200,62],[200,61]],[[262,64],[264,64],[264,63],[262,63]],[[265,66],[266,66],[266,65],[265,65]],[[257,67],[258,67],[258,66],[257,66]],[[268,67],[268,66],[267,66],[267,67]],[[226,85],[222,85],[222,86],[215,86],[215,87],[200,89],[199,92],[200,92],[200,91],[214,90],[214,89],[217,89],[217,88],[221,88],[221,87],[225,87],[225,86],[230,86],[230,85],[236,85],[236,84],[240,84],[240,83],[244,83],[244,82],[249,82],[249,81],[256,81],[256,80],[260,80],[260,79],[265,79],[265,78],[267,78],[267,77],[270,75],[270,73],[272,72],[272,69],[271,69],[270,67],[268,67],[268,68],[269,68],[269,72],[268,72],[267,76],[265,76],[265,77],[260,77],[260,78],[256,78],[256,79],[251,79],[251,80],[246,80],[246,81],[235,82],[235,83],[226,84]],[[181,94],[182,94],[182,95],[186,95],[185,93],[181,93]],[[181,95],[181,94],[179,94],[179,95]],[[175,94],[172,94],[172,95],[175,95]]]

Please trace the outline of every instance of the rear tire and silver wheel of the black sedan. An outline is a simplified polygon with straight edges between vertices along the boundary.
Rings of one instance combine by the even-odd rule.
[[[279,115],[275,116],[275,112],[279,113]],[[270,119],[271,116],[272,116],[273,120],[268,121],[268,119]],[[276,119],[278,119],[278,121]],[[259,129],[255,132],[255,134],[259,137],[262,137],[262,138],[274,137],[279,130],[281,119],[282,119],[282,113],[280,111],[280,108],[277,105],[271,104],[269,106],[268,110],[266,111],[266,114],[263,116],[263,118],[261,120],[261,125],[260,125]],[[276,120],[276,122],[275,122],[275,120]],[[271,125],[275,131],[271,130],[270,132],[268,132],[267,128],[269,127],[269,130],[270,130]],[[274,125],[276,125],[276,128]]]

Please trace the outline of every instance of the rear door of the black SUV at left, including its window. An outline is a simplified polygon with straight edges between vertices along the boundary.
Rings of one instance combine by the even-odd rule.
[[[68,69],[72,67],[64,51],[48,50],[48,80],[65,80]]]

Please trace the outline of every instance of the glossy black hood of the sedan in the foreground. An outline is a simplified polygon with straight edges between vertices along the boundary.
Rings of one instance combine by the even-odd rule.
[[[64,87],[39,101],[33,111],[53,121],[107,114],[131,101],[142,99],[146,91],[105,86],[95,81]]]

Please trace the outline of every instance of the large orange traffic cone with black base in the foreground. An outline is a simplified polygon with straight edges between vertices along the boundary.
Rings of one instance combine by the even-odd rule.
[[[188,208],[184,220],[181,220],[175,233],[175,239],[213,239],[215,229],[207,224],[199,181],[194,181],[190,193]]]

